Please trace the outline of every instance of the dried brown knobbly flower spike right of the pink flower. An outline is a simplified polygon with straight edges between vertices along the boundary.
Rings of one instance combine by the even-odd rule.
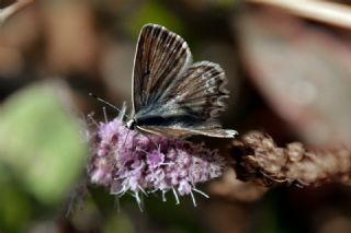
[[[234,168],[241,180],[263,186],[284,183],[317,186],[330,182],[351,184],[351,151],[346,148],[308,151],[299,142],[276,147],[270,136],[249,132],[231,145]]]

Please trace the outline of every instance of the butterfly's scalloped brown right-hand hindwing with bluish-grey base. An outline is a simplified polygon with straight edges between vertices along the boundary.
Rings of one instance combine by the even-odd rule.
[[[136,118],[140,126],[219,127],[216,117],[225,109],[228,96],[223,69],[202,61],[190,66],[162,96],[141,107]]]

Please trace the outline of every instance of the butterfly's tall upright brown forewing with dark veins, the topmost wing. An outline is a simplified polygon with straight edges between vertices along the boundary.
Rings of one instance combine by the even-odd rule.
[[[134,59],[134,112],[158,102],[162,91],[183,72],[190,60],[190,49],[179,35],[160,25],[145,25]]]

